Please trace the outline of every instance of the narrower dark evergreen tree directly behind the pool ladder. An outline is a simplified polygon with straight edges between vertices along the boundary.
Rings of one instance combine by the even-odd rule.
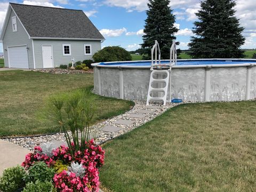
[[[174,27],[175,17],[172,14],[172,10],[169,6],[170,0],[149,0],[146,25],[143,35],[142,48],[145,48],[144,59],[151,58],[151,47],[154,45],[154,41],[157,40],[161,50],[162,59],[170,59],[170,47],[172,40],[176,39],[174,33],[178,32],[178,29]]]

